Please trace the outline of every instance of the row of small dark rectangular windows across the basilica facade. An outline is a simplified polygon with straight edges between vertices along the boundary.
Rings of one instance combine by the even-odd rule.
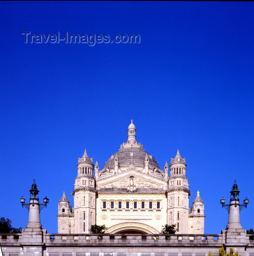
[[[110,201],[102,202],[103,209],[160,209],[161,202],[153,200],[153,201]]]

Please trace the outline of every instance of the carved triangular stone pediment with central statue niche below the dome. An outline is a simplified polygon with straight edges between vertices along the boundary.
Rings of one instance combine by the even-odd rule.
[[[148,177],[146,177],[148,176]],[[130,171],[124,174],[118,174],[103,181],[98,181],[100,189],[106,188],[141,188],[141,189],[163,189],[167,184],[166,181],[156,179],[144,173]]]

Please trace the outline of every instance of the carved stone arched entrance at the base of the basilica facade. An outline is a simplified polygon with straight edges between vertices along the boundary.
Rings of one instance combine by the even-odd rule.
[[[110,234],[159,234],[160,232],[151,226],[138,222],[124,222],[109,227],[106,233]]]

